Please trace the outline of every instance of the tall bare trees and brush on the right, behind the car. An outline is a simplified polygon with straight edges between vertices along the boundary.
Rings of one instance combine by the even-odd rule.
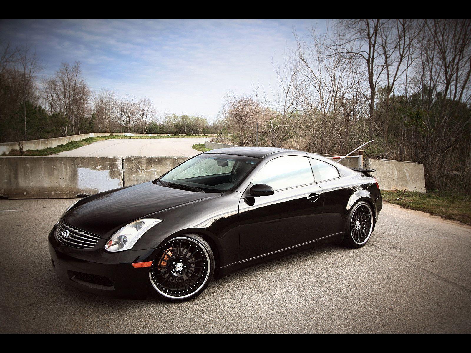
[[[232,142],[424,164],[429,190],[471,193],[471,22],[360,19],[296,37],[281,94],[231,96]]]

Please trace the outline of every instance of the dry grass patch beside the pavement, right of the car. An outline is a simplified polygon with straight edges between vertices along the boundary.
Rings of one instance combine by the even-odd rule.
[[[470,196],[436,191],[417,193],[400,190],[382,190],[381,194],[385,202],[395,203],[401,207],[427,212],[434,216],[471,225]]]

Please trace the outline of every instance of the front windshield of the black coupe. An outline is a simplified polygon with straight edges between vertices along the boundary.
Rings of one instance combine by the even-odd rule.
[[[238,185],[260,161],[258,158],[204,153],[162,176],[160,183],[205,193],[220,193]]]

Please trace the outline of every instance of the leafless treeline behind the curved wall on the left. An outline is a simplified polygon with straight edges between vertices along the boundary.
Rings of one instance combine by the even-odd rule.
[[[80,63],[61,64],[52,77],[31,48],[0,43],[0,142],[90,132],[216,133],[206,118],[158,112],[151,99],[93,92]],[[19,146],[21,149],[21,146]]]

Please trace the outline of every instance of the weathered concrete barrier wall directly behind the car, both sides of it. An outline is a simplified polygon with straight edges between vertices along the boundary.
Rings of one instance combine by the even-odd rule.
[[[218,146],[219,147],[219,146]],[[73,198],[153,180],[189,157],[0,157],[0,196],[9,199]],[[346,159],[342,164],[355,164]],[[364,160],[382,190],[425,193],[423,165]]]

